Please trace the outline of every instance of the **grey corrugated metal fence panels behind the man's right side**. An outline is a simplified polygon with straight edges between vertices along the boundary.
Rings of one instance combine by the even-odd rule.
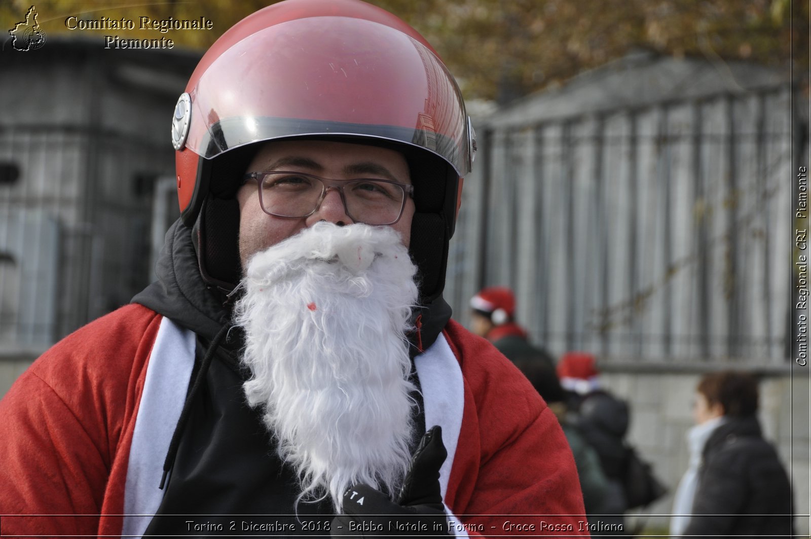
[[[777,84],[529,123],[496,113],[453,239],[457,317],[504,284],[556,354],[787,361],[791,103]]]

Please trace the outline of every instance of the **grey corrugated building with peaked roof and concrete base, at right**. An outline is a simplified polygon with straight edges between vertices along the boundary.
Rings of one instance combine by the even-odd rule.
[[[448,260],[455,316],[507,285],[534,340],[597,355],[671,494],[700,375],[761,374],[766,436],[809,507],[809,371],[792,376],[791,353],[808,108],[783,73],[639,51],[474,121]]]

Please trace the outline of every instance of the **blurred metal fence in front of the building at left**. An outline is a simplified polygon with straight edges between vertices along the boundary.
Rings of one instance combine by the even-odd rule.
[[[135,192],[150,181],[139,174],[169,170],[171,155],[104,135],[60,126],[0,133],[0,161],[19,170],[0,185],[3,347],[47,347],[148,282],[151,194]]]

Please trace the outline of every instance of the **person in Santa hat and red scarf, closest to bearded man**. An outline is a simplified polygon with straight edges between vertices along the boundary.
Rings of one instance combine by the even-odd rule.
[[[515,321],[515,295],[508,287],[487,287],[470,298],[474,334],[487,338],[519,369],[543,364],[554,369],[555,361],[541,347],[530,344],[526,330]]]

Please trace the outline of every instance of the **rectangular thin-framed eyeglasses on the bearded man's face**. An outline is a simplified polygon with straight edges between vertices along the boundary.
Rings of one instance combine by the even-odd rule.
[[[405,195],[414,186],[389,179],[325,179],[302,172],[250,172],[244,181],[259,183],[264,213],[283,218],[305,218],[315,213],[329,189],[341,195],[346,214],[354,222],[393,225],[405,208]]]

